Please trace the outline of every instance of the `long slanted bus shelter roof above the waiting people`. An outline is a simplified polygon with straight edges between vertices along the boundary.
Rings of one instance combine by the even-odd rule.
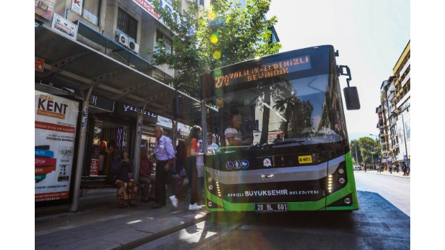
[[[88,39],[98,44],[106,42],[108,49],[123,48],[108,38],[100,38],[99,33],[93,33],[85,25],[79,25],[79,32],[84,35],[90,33]],[[76,90],[93,87],[95,96],[135,107],[143,107],[146,103],[149,112],[173,119],[172,99],[177,91],[174,88],[44,25],[35,29],[34,46],[35,56],[44,60],[44,72],[35,71],[37,80]],[[132,65],[149,67],[145,60],[131,54]],[[194,114],[199,101],[182,92],[179,94],[184,97],[184,112]],[[188,124],[186,121],[181,123]]]

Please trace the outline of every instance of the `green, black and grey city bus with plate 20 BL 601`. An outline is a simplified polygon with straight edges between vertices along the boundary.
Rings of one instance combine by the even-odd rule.
[[[338,55],[323,45],[201,76],[207,211],[359,209],[339,76],[346,108],[360,103]]]

